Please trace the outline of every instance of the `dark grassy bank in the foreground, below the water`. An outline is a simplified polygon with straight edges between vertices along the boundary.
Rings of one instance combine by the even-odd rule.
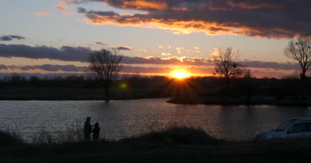
[[[171,127],[120,141],[14,144],[0,162],[303,162],[311,140],[226,142],[197,128]]]

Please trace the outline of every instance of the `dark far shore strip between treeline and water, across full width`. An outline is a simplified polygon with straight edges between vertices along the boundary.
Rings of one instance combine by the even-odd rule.
[[[246,96],[189,96],[171,97],[161,89],[132,89],[112,90],[110,100],[136,100],[148,98],[170,98],[168,103],[175,104],[205,104],[205,105],[286,105],[286,106],[311,106],[311,99],[302,100],[300,97],[284,97],[277,99],[274,96],[252,96],[247,103]],[[106,100],[103,89],[95,88],[2,88],[0,101],[4,100],[38,100],[38,101],[79,101]]]

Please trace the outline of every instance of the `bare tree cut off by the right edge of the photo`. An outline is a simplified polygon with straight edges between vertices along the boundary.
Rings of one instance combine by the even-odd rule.
[[[311,37],[302,36],[296,41],[291,40],[287,48],[284,50],[284,55],[288,58],[297,60],[300,67],[300,78],[306,78],[306,71],[311,65]]]

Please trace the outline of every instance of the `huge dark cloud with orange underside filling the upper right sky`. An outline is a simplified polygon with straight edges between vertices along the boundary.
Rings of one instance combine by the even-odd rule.
[[[152,26],[175,33],[246,35],[291,38],[309,35],[308,0],[68,0],[71,3],[103,2],[120,9],[147,11],[118,14],[79,8],[95,24]]]

